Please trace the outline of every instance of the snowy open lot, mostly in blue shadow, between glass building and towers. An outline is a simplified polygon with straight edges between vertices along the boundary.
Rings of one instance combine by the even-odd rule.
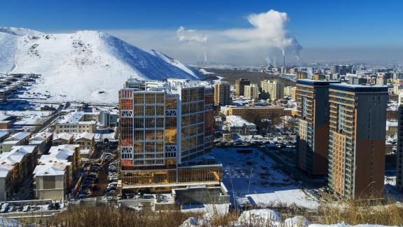
[[[237,153],[240,149],[245,148],[216,148],[212,153],[223,164],[223,182],[231,197],[246,196],[252,205],[261,207],[279,203],[294,203],[309,209],[317,207],[318,203],[308,197],[271,158],[258,149],[252,149],[252,153]]]

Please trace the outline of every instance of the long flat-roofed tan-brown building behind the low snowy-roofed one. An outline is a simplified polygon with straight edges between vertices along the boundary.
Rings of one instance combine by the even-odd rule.
[[[228,106],[226,116],[240,116],[241,118],[259,125],[262,119],[273,120],[281,116],[291,115],[291,110],[282,106]]]

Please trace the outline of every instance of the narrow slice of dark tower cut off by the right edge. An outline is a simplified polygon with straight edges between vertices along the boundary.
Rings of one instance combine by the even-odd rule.
[[[396,187],[403,191],[403,93],[399,94],[397,122]]]

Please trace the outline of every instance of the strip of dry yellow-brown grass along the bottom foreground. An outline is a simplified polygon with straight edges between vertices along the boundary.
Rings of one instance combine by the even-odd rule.
[[[283,218],[292,217],[294,212],[286,209],[276,209],[282,213]],[[220,216],[213,212],[212,216],[204,217],[203,226],[232,226],[238,220],[240,213],[232,212]],[[335,206],[322,205],[317,212],[306,212],[299,215],[305,216],[313,223],[334,224],[347,223],[356,225],[360,223],[380,224],[388,226],[403,225],[403,207],[395,204],[390,205],[367,205],[362,202],[343,203]],[[294,215],[296,215],[294,213]],[[142,210],[140,212],[132,209],[117,209],[107,205],[84,205],[81,207],[70,207],[67,212],[58,214],[53,219],[42,222],[43,226],[180,226],[189,217],[195,216],[203,219],[202,214],[182,213],[179,210],[170,212],[153,212]],[[32,223],[32,222],[31,222]],[[238,223],[238,226],[271,226],[264,219],[251,219],[245,223]],[[280,223],[280,226],[285,226]]]

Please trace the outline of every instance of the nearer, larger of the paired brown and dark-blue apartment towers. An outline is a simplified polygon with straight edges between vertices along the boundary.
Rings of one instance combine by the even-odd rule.
[[[329,87],[329,188],[343,198],[383,198],[388,87]]]

